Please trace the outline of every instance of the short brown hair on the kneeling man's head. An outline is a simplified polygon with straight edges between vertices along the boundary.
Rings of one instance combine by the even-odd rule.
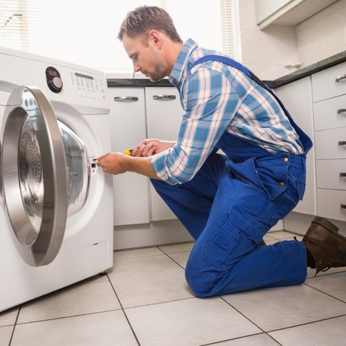
[[[124,34],[131,38],[145,38],[150,30],[163,31],[173,42],[183,43],[172,17],[163,8],[156,6],[140,6],[128,12],[120,26],[118,39],[122,41]]]

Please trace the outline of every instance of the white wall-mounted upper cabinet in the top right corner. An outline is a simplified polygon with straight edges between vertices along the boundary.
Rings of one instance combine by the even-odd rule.
[[[295,26],[338,0],[255,0],[260,29],[271,24]]]

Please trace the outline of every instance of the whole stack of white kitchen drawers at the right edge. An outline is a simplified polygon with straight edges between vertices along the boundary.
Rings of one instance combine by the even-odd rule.
[[[317,215],[346,221],[346,63],[311,76]]]

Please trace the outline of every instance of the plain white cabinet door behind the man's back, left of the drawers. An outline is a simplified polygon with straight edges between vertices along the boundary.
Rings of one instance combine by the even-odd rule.
[[[275,90],[297,125],[313,139],[313,105],[310,77],[286,84]],[[316,164],[313,148],[307,154],[307,186],[304,198],[293,211],[316,215]]]

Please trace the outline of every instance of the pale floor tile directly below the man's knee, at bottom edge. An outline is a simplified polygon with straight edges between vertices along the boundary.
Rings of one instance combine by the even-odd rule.
[[[260,332],[217,297],[191,298],[125,312],[141,346],[203,345]]]

